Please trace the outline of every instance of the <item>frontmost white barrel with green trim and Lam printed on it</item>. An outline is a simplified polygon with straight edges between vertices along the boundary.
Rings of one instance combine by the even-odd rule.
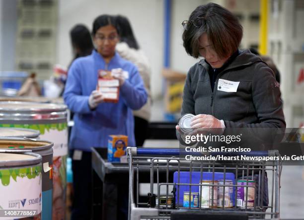
[[[41,219],[42,158],[0,149],[0,220]]]

